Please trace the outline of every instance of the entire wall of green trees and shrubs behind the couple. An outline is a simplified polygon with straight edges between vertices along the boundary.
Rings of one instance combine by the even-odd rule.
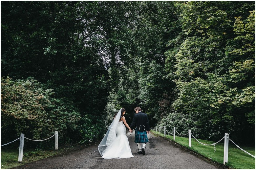
[[[88,143],[140,106],[151,127],[255,143],[254,2],[2,1],[1,37],[2,142]]]

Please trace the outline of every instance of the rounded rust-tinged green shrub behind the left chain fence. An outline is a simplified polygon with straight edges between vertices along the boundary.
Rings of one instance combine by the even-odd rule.
[[[53,98],[53,94],[53,89],[46,89],[31,77],[17,81],[1,78],[1,142],[20,133],[35,140],[45,139],[55,131],[60,141],[67,141],[77,131],[81,117],[73,105]]]

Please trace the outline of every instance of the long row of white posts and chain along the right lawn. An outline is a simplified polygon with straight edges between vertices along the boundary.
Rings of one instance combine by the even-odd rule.
[[[155,128],[154,128],[155,129]],[[157,127],[156,127],[156,131],[157,131]],[[195,138],[195,136],[191,133],[191,130],[189,129],[188,132],[186,134],[180,134],[178,131],[176,131],[176,128],[174,127],[173,128],[173,132],[170,133],[169,131],[166,130],[165,126],[164,126],[164,129],[162,129],[161,126],[159,126],[159,132],[161,133],[161,130],[164,130],[164,136],[166,135],[166,132],[167,134],[170,134],[172,135],[173,134],[173,140],[175,140],[175,132],[178,133],[180,136],[185,136],[188,134],[188,143],[189,143],[189,147],[191,147],[191,135],[192,137],[200,144],[202,145],[205,145],[205,146],[213,146],[214,145],[214,153],[216,152],[216,144],[218,144],[219,142],[221,142],[223,139],[224,139],[224,160],[223,160],[223,163],[225,165],[225,163],[227,163],[227,158],[228,158],[228,141],[232,142],[236,147],[238,147],[239,149],[241,149],[242,151],[244,151],[245,153],[247,153],[248,155],[252,156],[253,158],[255,158],[254,155],[248,153],[247,151],[245,151],[244,149],[242,149],[241,147],[239,147],[238,145],[236,145],[228,136],[227,133],[225,133],[224,137],[221,138],[218,142],[216,143],[213,143],[213,144],[204,144],[202,142],[200,142],[199,140],[197,140]]]

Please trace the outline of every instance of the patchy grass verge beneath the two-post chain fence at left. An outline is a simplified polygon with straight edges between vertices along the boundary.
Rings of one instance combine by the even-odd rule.
[[[61,155],[67,151],[84,148],[85,146],[65,146],[55,149],[24,149],[22,163],[18,163],[18,149],[2,149],[1,148],[1,169],[11,169],[21,164],[35,162],[44,158],[55,155]]]

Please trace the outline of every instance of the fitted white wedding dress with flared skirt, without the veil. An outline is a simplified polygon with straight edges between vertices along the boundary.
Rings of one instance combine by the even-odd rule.
[[[117,123],[116,135],[117,138],[113,140],[113,142],[103,151],[102,158],[119,159],[134,157],[132,155],[129,141],[126,136],[126,129],[123,121]]]

